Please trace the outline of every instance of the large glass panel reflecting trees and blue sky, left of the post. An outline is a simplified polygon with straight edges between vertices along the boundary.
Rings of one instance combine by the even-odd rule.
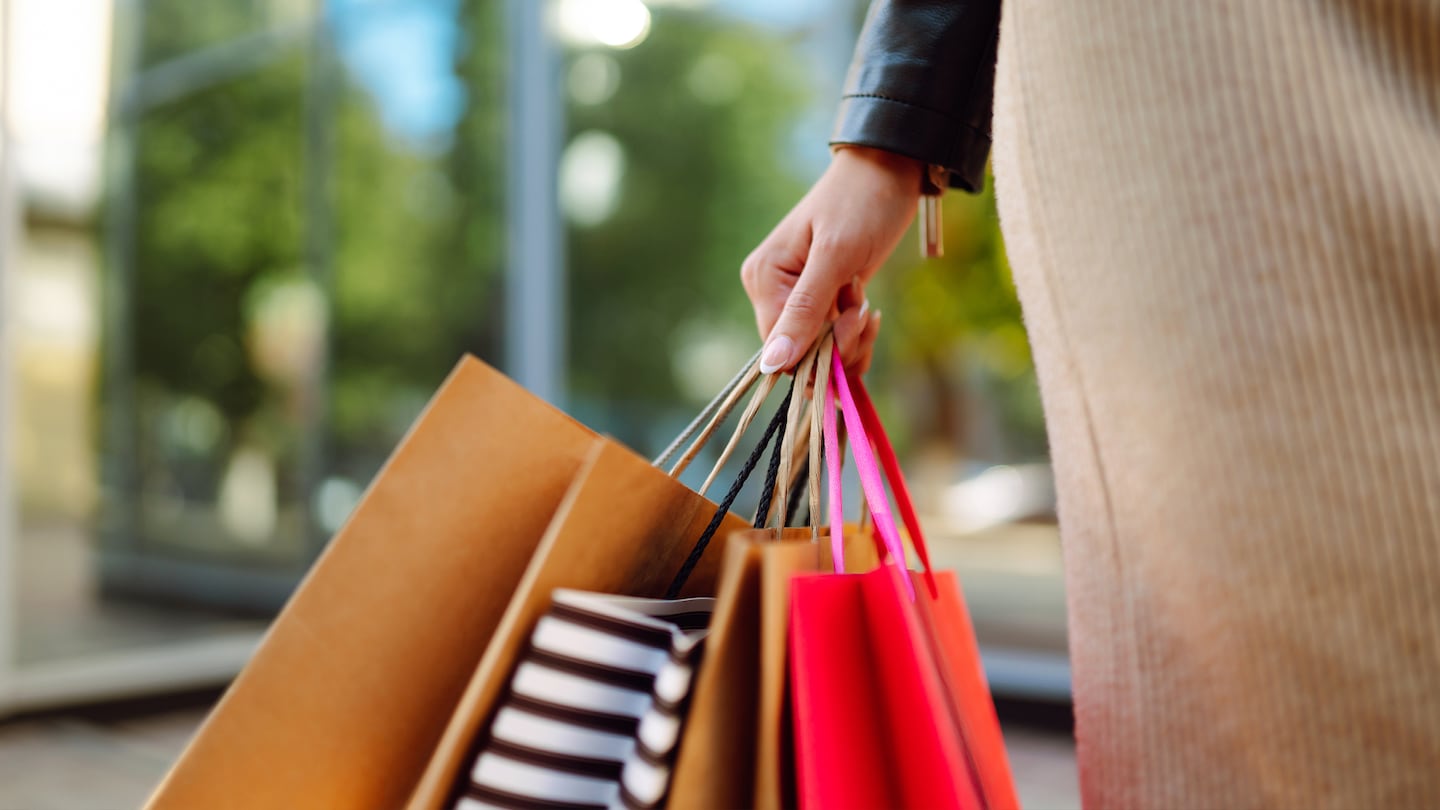
[[[150,4],[147,49],[213,33],[181,7]],[[503,53],[462,59],[448,1],[325,13],[132,128],[108,592],[274,611],[455,359],[494,353],[500,108],[459,75],[482,86]],[[184,59],[210,58],[232,55]]]

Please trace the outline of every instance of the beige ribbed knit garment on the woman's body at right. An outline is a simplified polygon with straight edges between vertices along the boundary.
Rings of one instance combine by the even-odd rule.
[[[1007,0],[1087,807],[1440,806],[1440,3]]]

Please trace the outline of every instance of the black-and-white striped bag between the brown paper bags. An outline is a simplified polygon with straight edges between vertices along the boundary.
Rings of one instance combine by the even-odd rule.
[[[456,809],[658,807],[713,607],[557,589]]]

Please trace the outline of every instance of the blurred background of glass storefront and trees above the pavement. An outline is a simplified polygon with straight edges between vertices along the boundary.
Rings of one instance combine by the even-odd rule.
[[[664,447],[759,347],[864,12],[0,0],[0,716],[223,685],[465,352]],[[1063,702],[994,199],[945,206],[870,385],[996,690]]]

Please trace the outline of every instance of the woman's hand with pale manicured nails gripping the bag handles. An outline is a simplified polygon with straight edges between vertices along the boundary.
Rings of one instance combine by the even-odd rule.
[[[845,366],[864,373],[880,330],[864,284],[914,219],[917,160],[865,147],[835,153],[815,187],[740,265],[740,280],[766,337],[760,370],[793,366],[835,319]]]

